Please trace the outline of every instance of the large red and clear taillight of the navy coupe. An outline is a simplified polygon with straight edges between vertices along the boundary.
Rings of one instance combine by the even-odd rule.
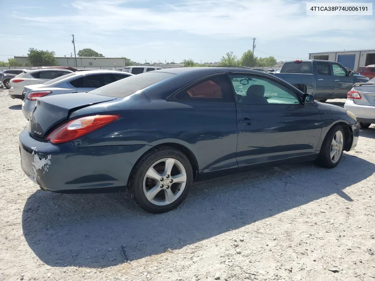
[[[51,143],[69,142],[98,130],[120,117],[120,114],[108,114],[77,118],[57,127],[47,136],[46,140]]]

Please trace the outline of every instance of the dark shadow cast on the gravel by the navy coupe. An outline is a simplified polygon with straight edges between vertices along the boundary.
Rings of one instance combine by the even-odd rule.
[[[38,190],[24,206],[23,232],[31,250],[47,265],[104,268],[124,263],[121,245],[126,248],[127,259],[138,260],[331,194],[353,201],[345,188],[374,172],[374,164],[348,154],[335,169],[310,162],[263,167],[195,183],[179,208],[159,215],[137,208],[126,193],[55,194]]]

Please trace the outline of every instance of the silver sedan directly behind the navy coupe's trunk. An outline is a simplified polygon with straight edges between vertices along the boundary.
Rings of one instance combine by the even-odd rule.
[[[53,96],[66,93],[81,93],[95,90],[96,88],[132,76],[131,73],[119,73],[113,70],[78,71],[49,80],[44,84],[29,85],[24,87],[24,102],[22,113],[29,120],[31,111],[40,97]]]

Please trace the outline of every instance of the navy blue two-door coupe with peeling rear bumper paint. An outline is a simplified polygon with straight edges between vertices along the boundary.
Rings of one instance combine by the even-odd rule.
[[[286,160],[333,168],[358,136],[351,112],[273,75],[187,67],[37,99],[20,152],[42,190],[127,188],[145,211],[162,213],[194,180]]]

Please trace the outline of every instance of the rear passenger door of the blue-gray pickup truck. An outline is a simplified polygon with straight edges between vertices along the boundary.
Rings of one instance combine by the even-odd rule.
[[[331,75],[331,66],[325,61],[316,61],[317,86],[315,99],[326,100],[333,96],[333,76]]]

